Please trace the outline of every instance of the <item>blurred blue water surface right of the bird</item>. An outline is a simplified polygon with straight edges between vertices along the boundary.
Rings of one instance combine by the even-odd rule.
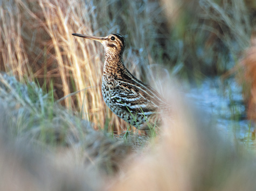
[[[238,138],[241,143],[255,147],[251,139],[254,123],[247,119],[241,87],[234,78],[207,78],[186,93],[195,105],[216,121],[216,127]]]

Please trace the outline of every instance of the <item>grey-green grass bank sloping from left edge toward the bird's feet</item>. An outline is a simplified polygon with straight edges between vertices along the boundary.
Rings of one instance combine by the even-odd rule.
[[[35,83],[27,86],[6,74],[0,74],[0,122],[0,139],[4,132],[41,150],[73,152],[88,167],[108,174],[132,150],[131,144],[95,131],[88,121],[54,103]]]

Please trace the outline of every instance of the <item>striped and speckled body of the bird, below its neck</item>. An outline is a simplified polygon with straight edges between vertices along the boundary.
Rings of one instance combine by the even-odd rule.
[[[103,99],[112,112],[140,129],[159,122],[158,112],[166,106],[160,94],[125,67],[113,74],[102,80]]]

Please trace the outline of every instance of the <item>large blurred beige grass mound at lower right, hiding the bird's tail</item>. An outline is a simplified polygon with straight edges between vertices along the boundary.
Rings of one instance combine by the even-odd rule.
[[[164,116],[158,139],[129,160],[108,190],[253,190],[255,156],[220,136],[177,91],[172,94],[173,118]]]

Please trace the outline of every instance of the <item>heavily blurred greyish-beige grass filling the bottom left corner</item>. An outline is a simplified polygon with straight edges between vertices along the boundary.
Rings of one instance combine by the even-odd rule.
[[[46,152],[28,140],[11,139],[2,130],[0,143],[1,190],[100,190],[103,185],[102,174],[78,164],[74,155]]]

